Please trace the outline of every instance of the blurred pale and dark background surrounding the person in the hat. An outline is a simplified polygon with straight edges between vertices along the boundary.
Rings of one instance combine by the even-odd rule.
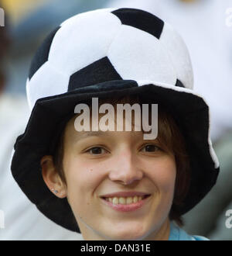
[[[15,184],[9,164],[15,138],[29,118],[26,78],[37,47],[63,20],[80,12],[131,7],[152,12],[183,36],[195,90],[210,106],[211,139],[220,161],[217,185],[184,216],[189,234],[232,240],[232,2],[231,0],[0,0],[0,240],[75,240],[81,235],[51,223]],[[231,222],[232,224],[232,222]]]

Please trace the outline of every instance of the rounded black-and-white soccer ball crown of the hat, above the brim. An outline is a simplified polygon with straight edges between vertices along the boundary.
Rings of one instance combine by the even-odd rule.
[[[193,88],[181,36],[139,9],[80,13],[54,29],[37,50],[26,83],[29,106],[47,96],[120,79]]]

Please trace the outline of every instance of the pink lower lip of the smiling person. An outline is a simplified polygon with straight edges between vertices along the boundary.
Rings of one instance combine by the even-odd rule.
[[[104,202],[105,205],[110,206],[112,209],[115,209],[116,211],[119,211],[119,212],[132,212],[132,211],[135,211],[137,209],[142,208],[142,206],[144,206],[145,203],[148,202],[150,197],[151,197],[151,195],[149,195],[145,199],[142,199],[142,200],[140,200],[138,202],[133,202],[133,203],[131,203],[129,205],[123,205],[123,204],[114,205],[112,202],[109,202],[109,201],[107,201],[107,200],[105,200],[103,198],[101,198],[101,201]]]

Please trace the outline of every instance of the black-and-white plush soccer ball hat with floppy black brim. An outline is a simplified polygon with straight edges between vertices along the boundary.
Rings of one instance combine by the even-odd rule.
[[[182,214],[217,181],[209,107],[193,92],[188,50],[172,26],[151,13],[98,9],[67,19],[37,50],[26,92],[32,112],[15,142],[12,175],[37,208],[62,227],[80,232],[67,199],[53,195],[43,181],[40,160],[53,154],[77,103],[92,97],[137,94],[169,107],[186,140],[191,168]]]

